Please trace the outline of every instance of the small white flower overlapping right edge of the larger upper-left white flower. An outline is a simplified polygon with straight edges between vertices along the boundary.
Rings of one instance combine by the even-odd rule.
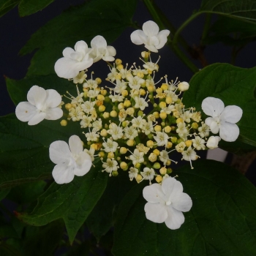
[[[90,49],[90,48],[89,48]],[[94,62],[103,59],[104,61],[114,61],[116,56],[116,49],[113,46],[107,45],[107,41],[102,36],[96,36],[91,40],[90,57]]]

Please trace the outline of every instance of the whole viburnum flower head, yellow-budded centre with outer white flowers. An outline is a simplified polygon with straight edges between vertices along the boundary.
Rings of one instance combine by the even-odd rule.
[[[182,211],[190,210],[192,200],[183,192],[178,176],[172,177],[170,165],[177,162],[171,153],[181,153],[181,160],[189,161],[194,169],[192,161],[199,158],[196,151],[217,148],[221,139],[232,142],[238,138],[236,123],[243,111],[236,105],[224,107],[221,99],[207,97],[202,109],[211,117],[203,120],[200,112],[182,102],[189,83],[178,78],[168,80],[167,75],[156,78],[160,56],[157,59],[153,53],[164,47],[169,32],[159,31],[157,23],[149,20],[143,30],[131,34],[133,43],[144,44],[149,50],[141,53],[141,66],[134,63],[124,67],[121,59],[114,59],[116,50],[102,36],[91,40],[91,48],[78,41],[75,50],[65,48],[64,57],[55,64],[56,74],[74,83],[78,95],[61,92],[61,101],[57,91],[32,86],[28,102],[20,102],[15,113],[20,121],[35,125],[44,118],[61,118],[64,107],[67,119],[62,119],[61,125],[79,122],[81,132],[72,135],[69,144],[63,140],[50,144],[56,183],[67,184],[75,176],[86,175],[100,159],[102,175],[115,177],[127,171],[130,181],[149,181],[143,189],[148,201],[146,218],[165,222],[175,230],[184,223]],[[101,59],[110,68],[105,82],[94,79],[97,71],[88,75],[88,68]]]

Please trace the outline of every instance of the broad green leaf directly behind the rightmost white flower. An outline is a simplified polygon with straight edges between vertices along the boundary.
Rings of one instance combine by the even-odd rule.
[[[237,105],[243,110],[243,116],[237,123],[240,135],[237,141],[225,143],[222,148],[229,147],[235,151],[253,151],[256,146],[256,67],[242,69],[230,64],[212,64],[197,72],[189,82],[189,90],[184,93],[183,102],[187,108],[195,107],[202,112],[203,120],[207,117],[201,108],[203,99],[216,97],[227,105]],[[249,145],[249,146],[248,146]]]

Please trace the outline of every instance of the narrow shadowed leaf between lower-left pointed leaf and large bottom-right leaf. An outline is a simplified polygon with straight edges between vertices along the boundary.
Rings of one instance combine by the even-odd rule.
[[[119,203],[127,191],[136,184],[135,181],[129,181],[128,173],[124,171],[120,171],[116,177],[108,178],[104,194],[86,219],[87,227],[98,241],[113,227]]]

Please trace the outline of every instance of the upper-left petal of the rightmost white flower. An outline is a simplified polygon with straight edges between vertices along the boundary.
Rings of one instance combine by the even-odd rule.
[[[216,117],[224,110],[224,103],[221,99],[207,97],[206,99],[203,99],[202,109],[207,116]]]

